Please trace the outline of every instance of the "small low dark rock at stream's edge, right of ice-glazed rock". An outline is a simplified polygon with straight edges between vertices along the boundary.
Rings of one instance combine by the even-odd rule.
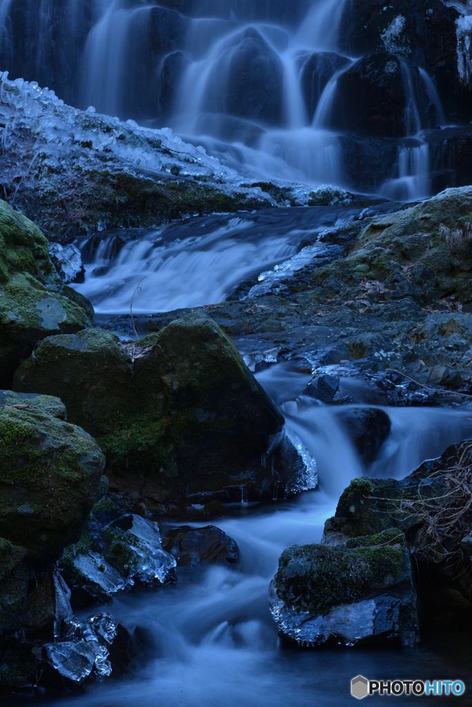
[[[165,534],[163,547],[177,558],[179,567],[195,567],[202,562],[228,565],[238,559],[235,541],[214,525],[171,528]]]

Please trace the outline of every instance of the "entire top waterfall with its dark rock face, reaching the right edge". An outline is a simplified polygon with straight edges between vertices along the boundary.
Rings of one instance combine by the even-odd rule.
[[[396,193],[423,198],[437,191],[432,173],[443,188],[456,177],[425,156],[421,171],[405,160],[406,139],[428,151],[422,132],[464,122],[471,103],[470,16],[459,0],[447,5],[415,0],[407,16],[398,2],[297,0],[289,11],[240,0],[47,0],[37,21],[30,1],[5,0],[0,62],[53,84],[88,115],[170,126],[252,179],[370,191],[403,180]],[[444,37],[439,52],[436,37]],[[34,47],[28,60],[25,46]],[[372,137],[381,141],[373,146]]]

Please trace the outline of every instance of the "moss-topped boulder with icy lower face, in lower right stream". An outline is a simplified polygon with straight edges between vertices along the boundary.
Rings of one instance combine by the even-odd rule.
[[[270,606],[298,645],[418,641],[411,563],[403,533],[385,530],[345,547],[312,544],[283,551]]]

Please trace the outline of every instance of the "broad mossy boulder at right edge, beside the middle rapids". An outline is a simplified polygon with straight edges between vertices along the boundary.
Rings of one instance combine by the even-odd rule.
[[[472,300],[472,187],[446,189],[418,206],[379,216],[360,232],[348,257],[317,269],[314,284],[370,301],[411,297],[421,305],[456,296]]]

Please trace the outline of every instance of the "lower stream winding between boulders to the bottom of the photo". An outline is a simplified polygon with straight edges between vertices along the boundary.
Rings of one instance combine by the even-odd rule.
[[[186,570],[176,586],[114,600],[109,610],[117,619],[129,629],[145,629],[151,644],[148,662],[119,682],[89,688],[88,694],[73,699],[76,707],[334,707],[350,703],[350,679],[357,674],[369,679],[464,679],[470,672],[471,648],[460,639],[403,650],[283,649],[268,604],[269,582],[281,552],[293,544],[319,541],[324,520],[334,514],[350,479],[362,474],[404,477],[422,460],[468,435],[466,411],[384,408],[391,433],[377,460],[365,467],[338,423],[336,409],[300,395],[309,379],[306,373],[276,364],[258,378],[316,457],[318,489],[273,506],[241,504],[235,517],[214,520],[237,542],[236,566]],[[360,397],[362,390],[359,384]],[[370,702],[382,704],[382,699],[372,697]],[[408,698],[396,699],[403,703]],[[414,700],[430,703],[425,696]],[[54,704],[66,707],[70,702],[59,699]]]

